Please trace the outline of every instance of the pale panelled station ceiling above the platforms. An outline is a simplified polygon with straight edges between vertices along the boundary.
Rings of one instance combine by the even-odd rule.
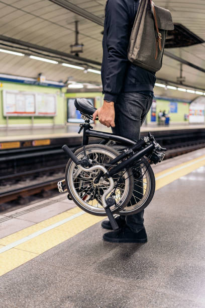
[[[76,13],[49,0],[0,0],[0,48],[33,54],[46,58],[52,57],[60,62],[77,64],[83,67],[100,70],[102,58],[103,27],[96,21],[104,21],[106,0],[63,0],[64,3],[76,9],[82,9],[96,17],[88,20]],[[174,23],[180,23],[201,39],[205,40],[205,2],[204,0],[155,0],[157,6],[169,9]],[[81,11],[82,11],[81,10]],[[75,21],[78,21],[79,43],[84,44],[83,53],[76,57],[65,58],[49,53],[48,50],[70,54],[70,45],[75,42]],[[5,39],[5,37],[10,38]],[[32,49],[26,44],[19,45],[15,40],[46,47],[46,51]],[[18,42],[18,41],[17,41]],[[33,45],[32,45],[33,46]],[[171,54],[205,69],[205,43],[166,49]],[[60,59],[61,58],[61,59]],[[85,59],[89,60],[89,63]],[[82,70],[31,59],[29,56],[17,56],[0,52],[0,73],[15,74],[36,78],[39,73],[47,80],[63,81],[70,79],[76,82],[100,84],[100,74],[84,73]],[[205,89],[204,72],[183,64],[184,84],[190,87]],[[157,78],[176,82],[180,74],[180,62],[168,56],[163,58],[163,67],[157,72]],[[157,89],[163,94],[164,89]],[[171,91],[171,93],[174,91]],[[178,91],[177,91],[178,92]],[[157,94],[158,94],[157,93]],[[173,96],[176,94],[173,93]],[[177,93],[177,96],[190,98],[190,94]],[[194,95],[192,95],[192,98]]]

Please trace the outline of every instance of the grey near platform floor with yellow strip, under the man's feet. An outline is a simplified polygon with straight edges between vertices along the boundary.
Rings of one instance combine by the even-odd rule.
[[[205,149],[153,166],[146,244],[104,242],[66,194],[0,216],[2,307],[205,307]]]

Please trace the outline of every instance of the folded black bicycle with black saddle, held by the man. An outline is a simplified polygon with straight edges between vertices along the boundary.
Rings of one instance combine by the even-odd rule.
[[[132,215],[143,210],[152,200],[155,192],[155,177],[150,164],[160,163],[166,148],[161,147],[151,133],[139,141],[113,133],[92,130],[90,120],[96,110],[83,98],[75,99],[84,123],[82,146],[72,150],[62,149],[70,158],[65,179],[58,182],[59,192],[68,192],[84,211],[106,216],[114,230],[118,224],[113,214]],[[89,138],[101,139],[99,143],[88,144]]]

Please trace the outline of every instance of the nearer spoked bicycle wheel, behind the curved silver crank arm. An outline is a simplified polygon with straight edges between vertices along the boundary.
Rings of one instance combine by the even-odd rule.
[[[78,160],[84,157],[84,149],[92,166],[102,165],[107,169],[114,167],[109,165],[109,162],[119,155],[118,151],[109,146],[90,144],[75,151]],[[101,178],[98,184],[94,184],[94,179],[99,172],[99,169],[91,172],[82,171],[80,166],[76,166],[73,161],[69,160],[65,171],[65,181],[70,197],[81,209],[93,215],[106,216],[101,197],[110,187],[110,182]],[[120,171],[113,176],[113,180],[115,186],[109,196],[111,195],[116,203],[124,208],[133,194],[134,180],[131,168]],[[119,208],[113,205],[110,209],[112,212],[117,212]]]

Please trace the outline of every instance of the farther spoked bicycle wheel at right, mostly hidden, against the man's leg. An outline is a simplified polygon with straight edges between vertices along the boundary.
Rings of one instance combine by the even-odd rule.
[[[130,202],[120,210],[120,215],[133,215],[142,211],[151,202],[155,192],[155,176],[146,159],[135,162],[132,166],[134,189]]]

